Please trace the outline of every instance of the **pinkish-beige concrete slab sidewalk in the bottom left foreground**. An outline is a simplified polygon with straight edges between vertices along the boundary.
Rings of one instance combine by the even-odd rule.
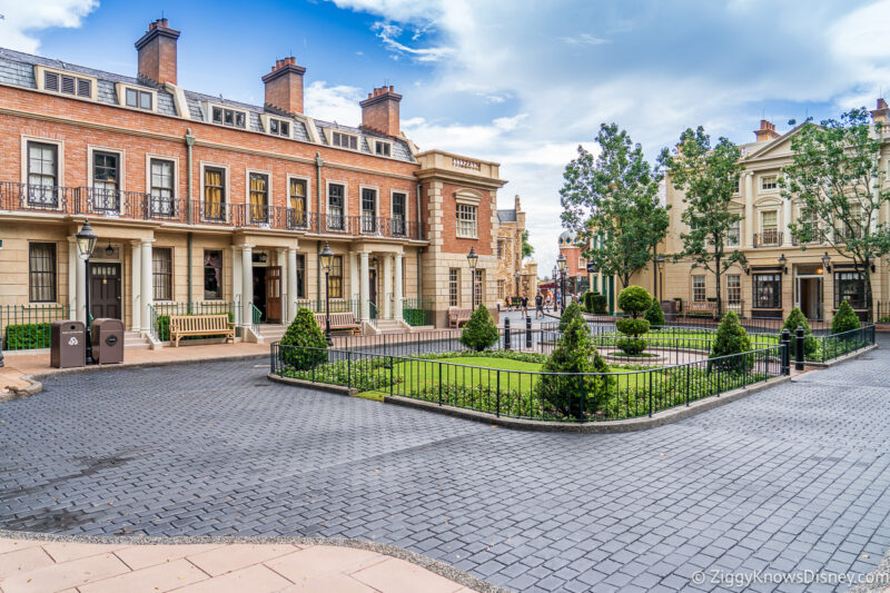
[[[0,540],[0,591],[464,593],[472,590],[405,560],[357,547]]]

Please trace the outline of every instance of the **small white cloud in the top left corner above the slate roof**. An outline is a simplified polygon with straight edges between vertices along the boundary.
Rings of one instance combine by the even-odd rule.
[[[50,27],[77,28],[98,0],[0,0],[0,42],[28,53],[40,50],[37,32]]]

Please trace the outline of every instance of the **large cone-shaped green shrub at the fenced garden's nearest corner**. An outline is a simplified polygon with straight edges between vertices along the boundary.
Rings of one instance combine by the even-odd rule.
[[[587,325],[576,317],[566,326],[541,372],[554,373],[541,375],[535,389],[544,409],[556,417],[584,419],[595,414],[605,406],[614,385],[610,375],[570,374],[610,372],[591,343]]]

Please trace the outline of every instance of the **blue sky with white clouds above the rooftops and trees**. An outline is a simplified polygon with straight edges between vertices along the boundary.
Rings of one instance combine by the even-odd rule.
[[[690,126],[736,142],[867,106],[890,89],[890,0],[0,0],[0,46],[135,73],[161,11],[180,29],[179,82],[261,102],[293,53],[307,112],[355,125],[375,86],[403,93],[421,148],[502,162],[542,275],[560,233],[562,170],[601,121],[650,157]]]

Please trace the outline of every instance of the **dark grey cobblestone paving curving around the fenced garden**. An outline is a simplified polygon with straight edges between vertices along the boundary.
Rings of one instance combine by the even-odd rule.
[[[883,348],[614,435],[298,389],[255,362],[61,376],[0,405],[0,526],[357,537],[520,591],[868,573],[890,547],[888,368]]]

